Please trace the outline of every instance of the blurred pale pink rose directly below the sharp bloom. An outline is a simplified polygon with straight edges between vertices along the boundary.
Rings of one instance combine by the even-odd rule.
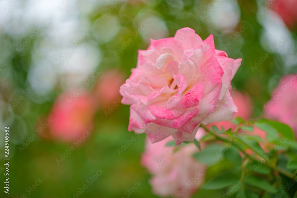
[[[195,138],[200,140],[205,131],[202,128],[198,131]],[[152,144],[147,138],[141,163],[153,175],[149,182],[154,194],[161,197],[180,195],[187,198],[202,185],[206,165],[192,157],[198,152],[195,144],[182,146],[174,152],[173,146],[165,146],[172,140],[172,137],[167,137]]]

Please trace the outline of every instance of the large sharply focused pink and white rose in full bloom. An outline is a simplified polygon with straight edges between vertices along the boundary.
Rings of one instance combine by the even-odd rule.
[[[131,105],[129,131],[145,132],[153,143],[171,135],[179,145],[194,140],[200,123],[232,119],[230,82],[240,64],[214,48],[212,35],[203,41],[191,28],[151,39],[120,89],[121,102]]]

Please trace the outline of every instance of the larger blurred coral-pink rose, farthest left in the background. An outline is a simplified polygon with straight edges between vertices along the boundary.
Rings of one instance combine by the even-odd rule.
[[[48,117],[50,135],[53,139],[74,142],[86,140],[93,127],[94,102],[92,97],[82,92],[77,97],[72,93],[58,96]]]

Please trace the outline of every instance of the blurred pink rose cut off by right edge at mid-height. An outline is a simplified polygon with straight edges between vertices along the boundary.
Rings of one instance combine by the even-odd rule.
[[[266,118],[289,125],[297,135],[297,74],[283,76],[264,104]]]

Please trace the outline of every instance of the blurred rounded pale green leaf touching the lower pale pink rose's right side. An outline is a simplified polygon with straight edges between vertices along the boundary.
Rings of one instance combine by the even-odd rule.
[[[206,147],[204,150],[195,153],[193,156],[198,160],[207,165],[213,165],[221,161],[222,154],[220,154],[220,146],[212,144]]]

